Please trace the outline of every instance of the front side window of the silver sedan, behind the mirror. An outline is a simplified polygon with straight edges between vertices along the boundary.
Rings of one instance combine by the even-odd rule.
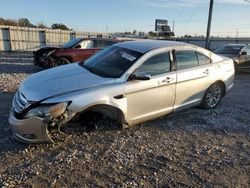
[[[169,71],[170,59],[167,52],[150,57],[136,70],[136,72],[146,72],[151,76],[167,73]]]

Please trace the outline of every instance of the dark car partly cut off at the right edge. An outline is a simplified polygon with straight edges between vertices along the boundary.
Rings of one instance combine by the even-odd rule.
[[[232,58],[236,71],[250,70],[250,45],[227,44],[214,50],[214,53]]]

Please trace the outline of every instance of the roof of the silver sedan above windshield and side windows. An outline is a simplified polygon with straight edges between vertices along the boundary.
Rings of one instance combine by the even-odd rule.
[[[141,53],[146,53],[148,51],[158,49],[158,48],[184,46],[184,45],[189,45],[189,44],[176,42],[176,41],[160,41],[160,40],[129,41],[129,42],[122,42],[122,43],[115,44],[115,46],[127,48],[127,49],[138,51]]]

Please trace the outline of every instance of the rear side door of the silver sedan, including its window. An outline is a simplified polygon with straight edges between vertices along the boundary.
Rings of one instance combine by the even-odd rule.
[[[213,83],[213,64],[209,57],[194,50],[177,50],[177,83],[174,110],[181,110],[201,102]]]

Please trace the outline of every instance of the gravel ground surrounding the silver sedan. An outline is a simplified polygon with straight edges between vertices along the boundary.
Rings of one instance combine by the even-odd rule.
[[[0,63],[0,187],[250,187],[250,74],[236,76],[215,110],[26,145],[7,118],[13,92],[38,70]]]

